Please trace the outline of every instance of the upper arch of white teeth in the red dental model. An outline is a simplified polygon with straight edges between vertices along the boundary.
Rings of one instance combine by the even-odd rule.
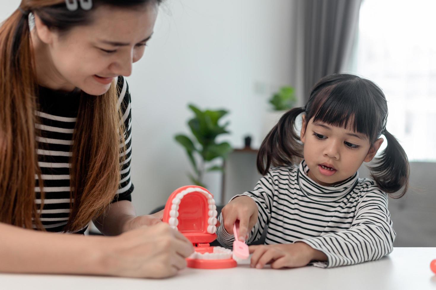
[[[176,197],[174,197],[174,199],[171,201],[170,220],[168,221],[168,223],[170,224],[170,227],[172,227],[173,229],[177,229],[177,226],[179,225],[179,220],[177,219],[179,217],[179,204],[185,195],[187,195],[188,193],[193,193],[193,192],[201,192],[204,194],[205,197],[207,197],[208,207],[209,207],[208,233],[211,233],[211,234],[216,233],[216,231],[217,231],[217,227],[216,227],[217,218],[216,217],[218,215],[218,212],[216,210],[217,207],[215,205],[215,200],[212,197],[212,195],[210,193],[208,193],[207,191],[202,190],[201,188],[195,188],[195,187],[189,187],[189,188],[181,191],[180,193],[177,193]],[[222,249],[227,250],[225,248],[222,248]],[[212,253],[209,253],[209,254],[212,254]]]

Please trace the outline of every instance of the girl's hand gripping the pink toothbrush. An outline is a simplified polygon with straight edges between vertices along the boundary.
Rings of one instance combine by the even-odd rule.
[[[239,240],[245,241],[249,231],[257,223],[258,209],[255,201],[248,196],[233,199],[221,210],[225,230],[233,234],[233,225],[239,220]]]

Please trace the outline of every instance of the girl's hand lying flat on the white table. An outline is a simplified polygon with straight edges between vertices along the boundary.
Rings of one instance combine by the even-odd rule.
[[[253,254],[250,267],[258,269],[266,264],[271,264],[273,269],[296,268],[306,266],[311,260],[327,260],[323,252],[303,242],[250,246],[249,251]]]

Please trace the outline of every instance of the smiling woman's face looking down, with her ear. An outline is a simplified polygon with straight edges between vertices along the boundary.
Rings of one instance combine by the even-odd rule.
[[[91,95],[106,93],[114,78],[129,76],[132,63],[143,56],[157,8],[154,3],[138,9],[103,5],[89,11],[91,24],[64,34],[49,30],[35,15],[32,43],[37,45],[38,83],[57,90],[78,87]]]

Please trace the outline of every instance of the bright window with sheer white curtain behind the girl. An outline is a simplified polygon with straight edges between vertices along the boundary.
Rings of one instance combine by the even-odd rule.
[[[352,60],[385,92],[387,129],[411,161],[436,161],[434,11],[434,0],[364,0]]]

